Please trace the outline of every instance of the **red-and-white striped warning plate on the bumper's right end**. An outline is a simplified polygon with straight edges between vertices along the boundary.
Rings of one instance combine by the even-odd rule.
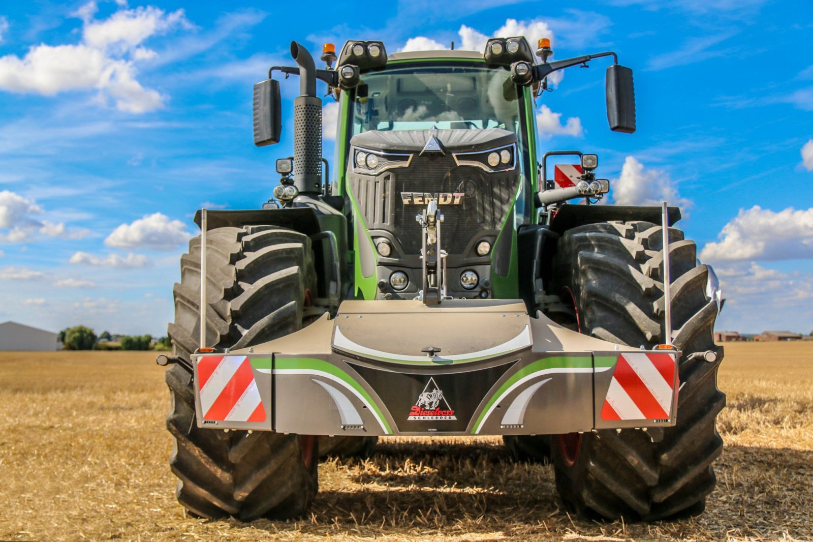
[[[675,354],[619,356],[602,407],[602,420],[667,420],[675,397]]]

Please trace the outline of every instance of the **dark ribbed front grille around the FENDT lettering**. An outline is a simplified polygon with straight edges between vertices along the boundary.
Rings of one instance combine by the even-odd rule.
[[[450,254],[463,254],[469,241],[485,229],[499,229],[511,210],[518,172],[486,173],[457,166],[451,155],[415,155],[409,168],[390,169],[377,177],[348,168],[350,189],[370,229],[385,229],[401,243],[406,255],[420,254],[421,230],[415,222],[425,206],[404,205],[402,192],[463,192],[459,205],[441,205],[442,245]]]

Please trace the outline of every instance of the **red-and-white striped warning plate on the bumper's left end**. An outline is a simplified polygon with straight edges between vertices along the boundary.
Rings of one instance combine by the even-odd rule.
[[[198,390],[204,420],[265,421],[263,400],[247,356],[204,356],[198,359]]]

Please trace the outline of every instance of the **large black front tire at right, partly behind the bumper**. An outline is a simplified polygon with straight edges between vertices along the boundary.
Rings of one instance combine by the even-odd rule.
[[[677,423],[648,431],[554,435],[556,487],[583,518],[655,521],[701,514],[723,449],[715,347],[718,307],[706,297],[709,270],[696,246],[670,229],[672,342],[682,352]],[[567,231],[551,262],[549,293],[572,299],[580,332],[629,346],[663,343],[663,237],[650,222],[604,222]],[[713,362],[693,352],[714,351]]]

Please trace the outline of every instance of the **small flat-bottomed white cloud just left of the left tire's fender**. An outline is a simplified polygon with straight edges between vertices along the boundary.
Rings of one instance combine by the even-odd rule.
[[[104,243],[116,248],[150,248],[171,251],[181,243],[186,243],[193,234],[185,230],[181,221],[170,221],[166,215],[156,212],[134,221],[122,224],[107,236]]]

